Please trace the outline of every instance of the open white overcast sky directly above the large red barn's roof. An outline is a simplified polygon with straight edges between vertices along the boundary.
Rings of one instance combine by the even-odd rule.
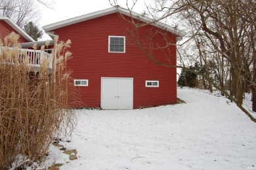
[[[129,0],[131,1],[131,0]],[[137,5],[133,11],[142,12],[145,9],[145,0],[138,0]],[[119,0],[121,7],[126,7],[126,0]],[[75,16],[81,16],[91,12],[100,11],[102,9],[108,9],[112,7],[108,0],[54,0],[54,10],[40,5],[41,20],[39,21],[39,27],[42,28],[48,24],[59,22]],[[41,40],[49,39],[47,35],[43,35]]]

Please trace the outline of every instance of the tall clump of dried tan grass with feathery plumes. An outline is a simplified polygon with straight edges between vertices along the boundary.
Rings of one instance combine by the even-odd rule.
[[[35,69],[18,38],[11,33],[4,43],[0,39],[0,169],[9,168],[16,156],[41,163],[53,138],[71,135],[75,125],[66,68],[70,40],[55,37],[53,57],[41,58]]]

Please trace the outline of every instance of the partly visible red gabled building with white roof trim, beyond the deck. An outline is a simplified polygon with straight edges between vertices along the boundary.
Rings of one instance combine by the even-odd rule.
[[[15,24],[10,18],[5,16],[0,16],[0,38],[4,42],[5,36],[9,35],[11,32],[20,35],[20,43],[34,42],[32,37],[28,33],[24,32],[17,24]]]

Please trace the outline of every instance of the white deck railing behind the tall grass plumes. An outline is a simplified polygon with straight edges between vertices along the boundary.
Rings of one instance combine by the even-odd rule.
[[[3,48],[3,47],[2,47]],[[2,49],[0,50],[0,54],[3,53]],[[32,67],[39,68],[41,61],[43,61],[44,58],[47,58],[49,64],[48,68],[53,69],[53,55],[46,53],[45,51],[41,50],[32,50],[32,49],[20,49],[18,60],[21,62],[24,62],[26,55],[29,57],[28,64]],[[12,62],[12,61],[10,61]]]

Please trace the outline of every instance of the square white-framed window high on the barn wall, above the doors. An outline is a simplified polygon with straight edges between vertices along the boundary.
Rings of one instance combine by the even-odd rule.
[[[108,53],[125,53],[125,36],[108,36]]]

